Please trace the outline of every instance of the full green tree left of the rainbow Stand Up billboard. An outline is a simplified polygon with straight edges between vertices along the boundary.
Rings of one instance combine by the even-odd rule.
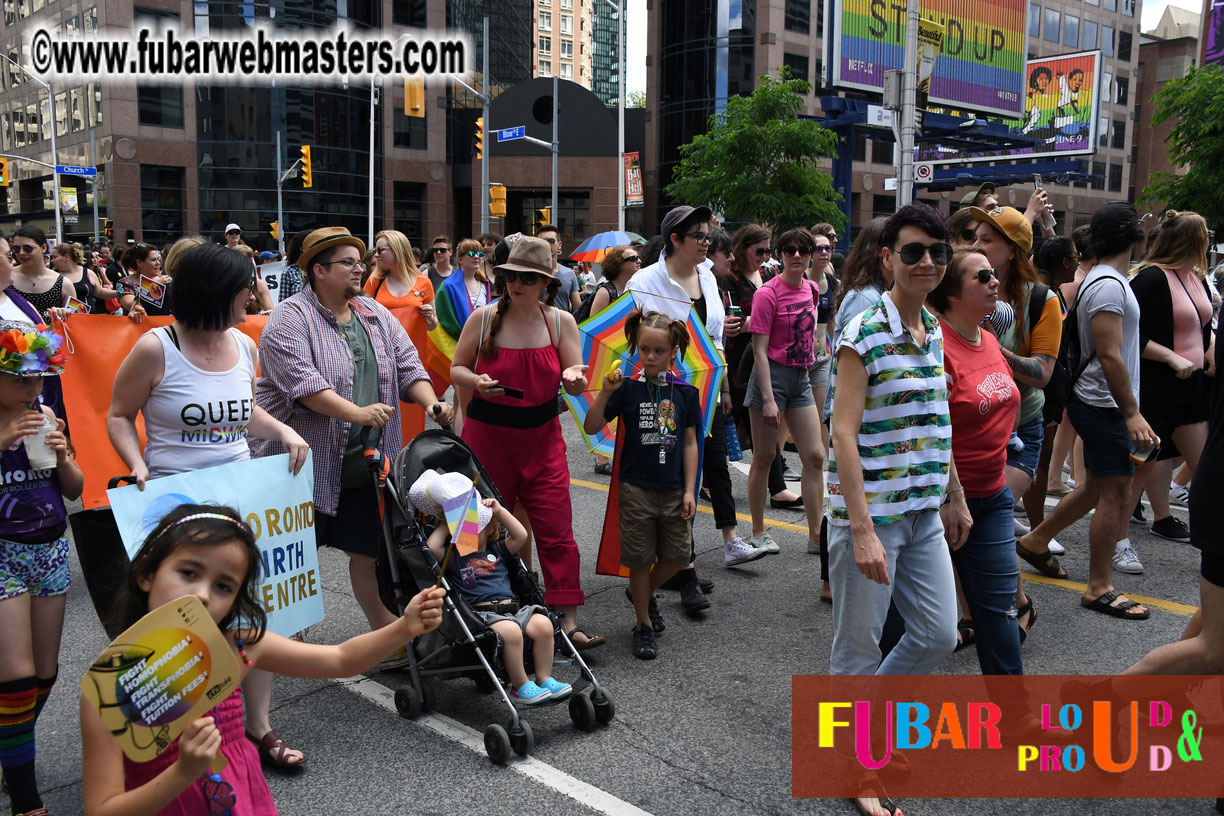
[[[821,166],[837,153],[837,136],[800,119],[812,87],[763,76],[749,97],[732,97],[707,133],[681,148],[681,165],[666,192],[678,202],[709,204],[728,221],[789,229],[829,221],[845,229],[832,179]]]

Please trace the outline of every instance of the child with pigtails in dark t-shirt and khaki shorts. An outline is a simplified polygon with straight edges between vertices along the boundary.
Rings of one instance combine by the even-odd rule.
[[[663,630],[655,592],[688,565],[693,548],[688,520],[696,513],[701,407],[696,389],[668,372],[676,355],[688,349],[682,321],[634,312],[624,333],[630,354],[638,350],[644,377],[627,378],[619,366],[607,372],[583,427],[597,433],[619,417],[625,431],[618,476],[621,564],[629,569],[636,615],[633,653],[649,661],[657,656],[655,634]]]

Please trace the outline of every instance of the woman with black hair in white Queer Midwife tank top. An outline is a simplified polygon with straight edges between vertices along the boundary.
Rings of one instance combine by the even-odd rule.
[[[251,262],[193,239],[175,243],[166,259],[175,323],[141,336],[119,367],[106,417],[110,444],[141,489],[148,478],[250,459],[247,436],[282,442],[296,473],[310,448],[256,406],[258,351],[234,328],[246,321],[253,296]],[[143,454],[137,414],[144,415],[148,438]],[[282,767],[301,765],[305,756],[285,745],[268,721],[272,675],[251,672],[242,688],[247,735],[261,755]]]

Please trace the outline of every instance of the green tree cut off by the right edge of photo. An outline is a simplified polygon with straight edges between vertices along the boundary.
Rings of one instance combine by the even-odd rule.
[[[1185,174],[1157,172],[1143,188],[1143,201],[1192,209],[1215,230],[1224,229],[1224,70],[1190,69],[1153,97],[1152,124],[1171,121],[1165,142],[1169,163]]]

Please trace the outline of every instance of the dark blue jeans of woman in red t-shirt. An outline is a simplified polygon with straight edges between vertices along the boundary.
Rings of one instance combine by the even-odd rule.
[[[1016,535],[1011,489],[984,499],[966,499],[973,527],[952,563],[973,617],[973,639],[983,674],[1023,674],[1016,620]]]

